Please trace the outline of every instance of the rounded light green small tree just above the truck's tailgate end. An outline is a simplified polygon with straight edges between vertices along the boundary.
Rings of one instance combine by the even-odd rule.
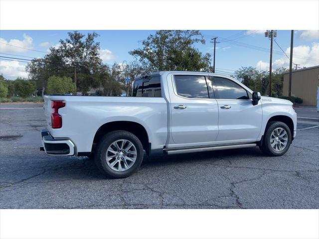
[[[48,79],[46,92],[48,94],[74,93],[75,84],[70,77],[51,76]]]

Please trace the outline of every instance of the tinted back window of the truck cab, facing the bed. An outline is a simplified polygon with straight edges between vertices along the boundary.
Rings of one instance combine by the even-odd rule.
[[[134,82],[133,97],[161,97],[160,76],[136,80]]]

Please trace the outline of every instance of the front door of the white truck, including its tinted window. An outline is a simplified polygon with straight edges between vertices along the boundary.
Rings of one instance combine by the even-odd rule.
[[[219,110],[217,141],[255,141],[262,124],[261,102],[253,106],[251,94],[235,80],[211,79]]]

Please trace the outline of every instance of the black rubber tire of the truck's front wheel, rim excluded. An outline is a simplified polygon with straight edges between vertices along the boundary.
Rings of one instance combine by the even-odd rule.
[[[271,146],[271,143],[270,143],[270,137],[271,137],[271,134],[272,132],[276,129],[276,128],[283,128],[286,130],[287,132],[287,138],[288,138],[288,142],[287,142],[287,145],[286,147],[281,150],[281,151],[276,151],[272,146]],[[292,141],[292,135],[291,135],[291,131],[290,131],[290,128],[288,127],[288,125],[284,122],[281,122],[281,121],[270,121],[267,126],[266,126],[266,129],[265,129],[265,133],[264,133],[264,137],[263,137],[263,143],[260,147],[260,149],[270,155],[270,156],[281,156],[283,154],[285,154],[289,147],[290,147],[290,144],[291,144],[291,141]]]

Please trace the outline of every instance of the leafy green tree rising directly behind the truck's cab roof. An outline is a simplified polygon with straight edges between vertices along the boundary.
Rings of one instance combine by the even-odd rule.
[[[148,71],[207,71],[210,54],[203,55],[194,43],[205,44],[198,30],[160,30],[142,42],[143,48],[129,53]]]

